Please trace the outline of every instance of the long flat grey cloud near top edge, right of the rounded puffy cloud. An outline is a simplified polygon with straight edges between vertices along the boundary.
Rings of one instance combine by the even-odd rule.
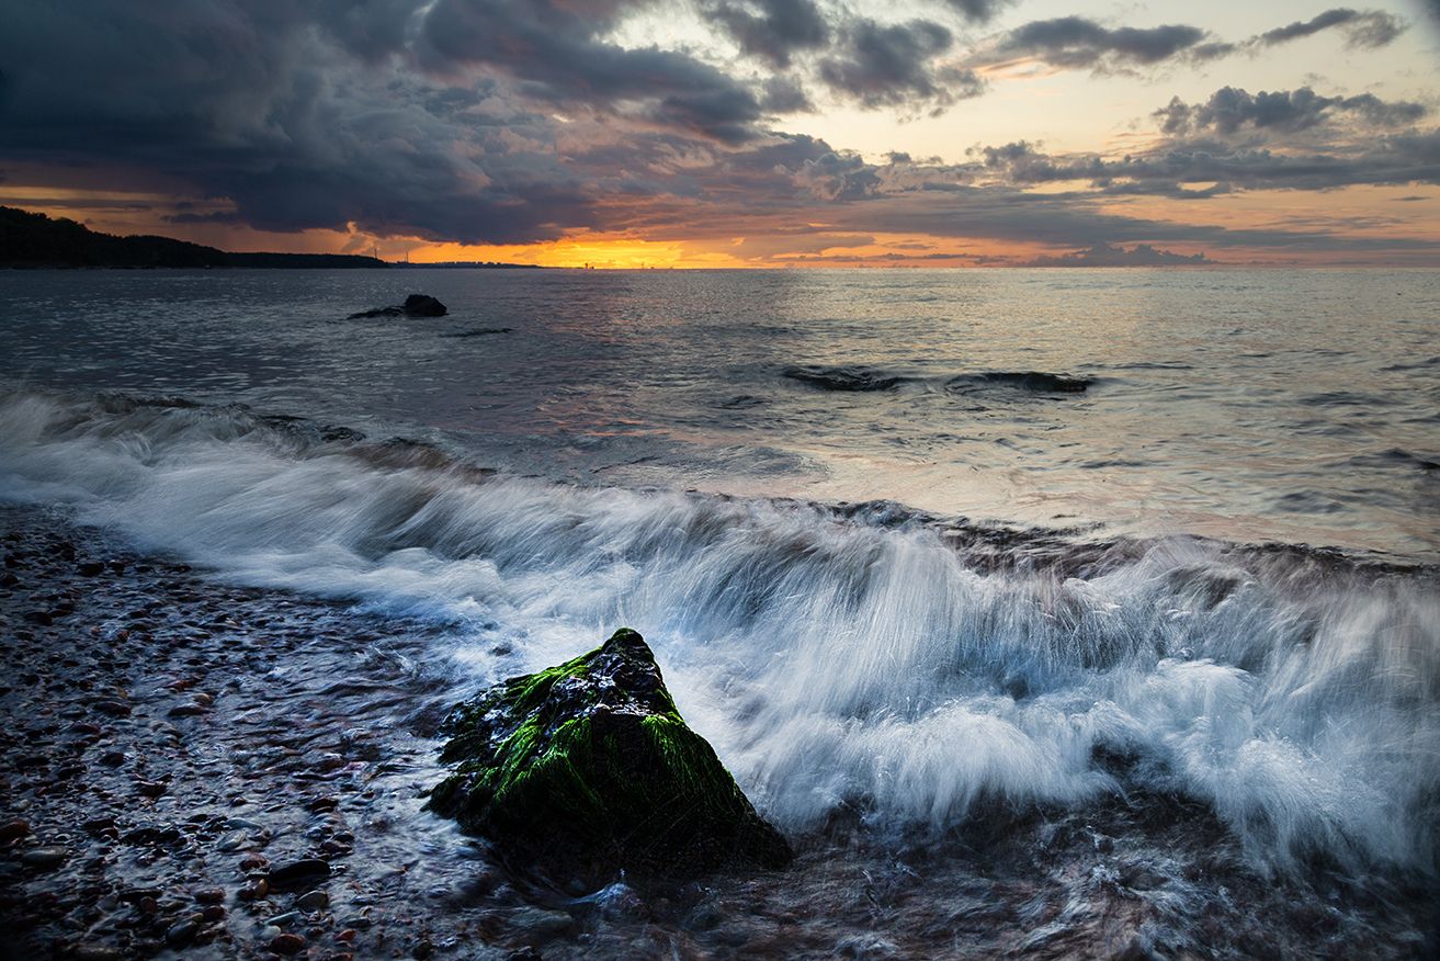
[[[1182,23],[1106,27],[1086,17],[1032,20],[999,43],[1001,58],[1032,56],[1063,69],[1116,71],[1149,66],[1200,45],[1205,30]]]

